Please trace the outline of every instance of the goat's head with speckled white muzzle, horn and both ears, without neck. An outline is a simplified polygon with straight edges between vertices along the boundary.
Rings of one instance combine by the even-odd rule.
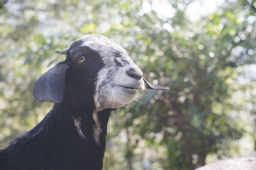
[[[56,52],[67,54],[67,59],[36,80],[34,96],[39,101],[54,103],[62,101],[63,90],[61,89],[65,87],[67,68],[70,68],[70,77],[75,83],[81,83],[90,89],[92,92],[90,96],[93,97],[97,111],[120,108],[131,103],[136,98],[136,90],[143,90],[145,87],[156,90],[167,89],[148,83],[142,77],[140,68],[134,64],[124,48],[104,36],[88,34],[74,42],[70,48],[56,50]],[[52,81],[56,82],[52,83]],[[45,84],[42,85],[42,82]],[[77,85],[77,87],[81,86]],[[56,91],[60,91],[58,95],[54,94]],[[88,94],[81,95],[88,96]]]

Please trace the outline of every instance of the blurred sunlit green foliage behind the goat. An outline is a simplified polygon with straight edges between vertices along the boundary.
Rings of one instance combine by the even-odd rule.
[[[52,103],[33,83],[83,34],[122,45],[145,77],[111,113],[104,169],[193,169],[256,150],[254,0],[0,0],[0,148]]]

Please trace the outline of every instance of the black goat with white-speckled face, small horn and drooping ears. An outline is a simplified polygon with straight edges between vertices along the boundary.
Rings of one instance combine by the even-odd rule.
[[[54,103],[31,131],[0,150],[0,169],[102,169],[109,115],[137,90],[167,90],[143,78],[127,52],[105,36],[88,34],[66,59],[35,81],[38,101]]]

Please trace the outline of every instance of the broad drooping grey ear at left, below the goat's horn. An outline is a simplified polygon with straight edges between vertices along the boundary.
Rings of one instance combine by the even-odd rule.
[[[35,82],[33,94],[38,101],[61,103],[65,87],[65,73],[69,66],[60,63],[42,74]]]

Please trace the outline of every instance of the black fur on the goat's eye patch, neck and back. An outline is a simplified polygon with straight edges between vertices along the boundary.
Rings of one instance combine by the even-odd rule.
[[[93,82],[104,64],[99,53],[79,45],[81,41],[73,43],[67,52],[67,59],[61,62],[68,67],[65,69],[63,99],[56,102],[31,131],[0,150],[1,170],[102,169],[111,109],[98,113],[102,130],[99,145],[93,138],[96,122],[92,114],[95,110]],[[82,55],[86,56],[86,62],[77,64]],[[80,127],[74,125],[75,120]]]

